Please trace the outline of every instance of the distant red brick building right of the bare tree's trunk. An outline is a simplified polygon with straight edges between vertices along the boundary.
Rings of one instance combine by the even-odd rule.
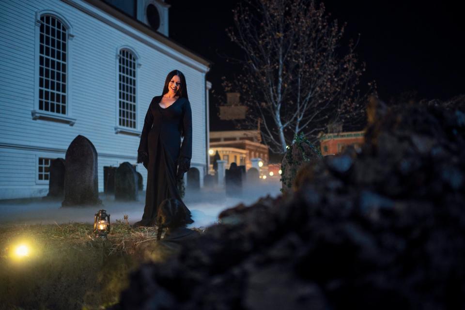
[[[365,131],[329,133],[320,136],[322,155],[336,155],[348,145],[359,147],[363,144]]]

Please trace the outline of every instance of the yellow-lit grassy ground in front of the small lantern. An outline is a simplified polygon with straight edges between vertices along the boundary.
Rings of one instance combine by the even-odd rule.
[[[31,251],[18,259],[21,243]],[[156,227],[121,220],[106,240],[85,223],[0,225],[0,309],[105,309],[140,263],[170,254],[158,246]]]

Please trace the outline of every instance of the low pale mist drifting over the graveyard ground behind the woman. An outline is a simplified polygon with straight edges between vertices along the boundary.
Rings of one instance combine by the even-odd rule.
[[[279,178],[268,178],[253,186],[244,186],[243,192],[227,197],[224,189],[201,188],[199,191],[186,191],[183,201],[192,212],[194,223],[188,227],[206,227],[217,221],[218,214],[224,209],[239,203],[251,204],[260,197],[280,194]],[[115,201],[113,195],[100,193],[103,205],[83,207],[61,207],[62,200],[31,198],[0,201],[0,225],[2,224],[53,224],[53,223],[93,223],[93,216],[99,209],[105,209],[113,222],[128,215],[130,224],[142,218],[145,205],[145,192],[140,191],[139,201]]]

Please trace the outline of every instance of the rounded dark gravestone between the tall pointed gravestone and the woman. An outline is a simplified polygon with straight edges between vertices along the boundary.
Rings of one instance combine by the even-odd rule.
[[[134,167],[125,161],[116,169],[115,200],[138,200],[139,177]]]

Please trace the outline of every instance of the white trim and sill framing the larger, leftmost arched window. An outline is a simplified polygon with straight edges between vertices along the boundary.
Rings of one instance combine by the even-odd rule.
[[[66,71],[66,115],[58,114],[53,112],[47,112],[44,110],[39,110],[39,53],[40,53],[40,25],[41,20],[40,16],[42,15],[51,15],[57,19],[59,19],[65,27],[68,29],[68,38],[66,42],[66,58],[67,58],[67,71]],[[53,11],[53,10],[41,10],[35,13],[35,42],[34,42],[34,109],[31,110],[31,117],[33,120],[47,120],[47,121],[55,121],[60,123],[69,124],[73,126],[76,123],[76,119],[73,118],[72,113],[72,98],[71,98],[71,88],[70,85],[72,84],[72,42],[74,38],[74,31],[73,27],[69,23],[69,21],[62,16],[60,13]]]

